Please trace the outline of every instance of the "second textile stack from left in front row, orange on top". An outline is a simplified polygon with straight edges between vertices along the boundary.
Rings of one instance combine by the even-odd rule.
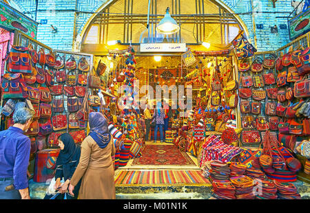
[[[237,199],[254,199],[254,180],[245,175],[231,177],[231,183],[236,188]]]

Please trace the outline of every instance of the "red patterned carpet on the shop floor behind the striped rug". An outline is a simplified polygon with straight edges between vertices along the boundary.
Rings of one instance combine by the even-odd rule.
[[[175,145],[145,145],[142,156],[135,158],[132,165],[196,165],[186,154]]]

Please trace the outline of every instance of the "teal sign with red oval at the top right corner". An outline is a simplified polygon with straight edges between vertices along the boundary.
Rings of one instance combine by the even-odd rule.
[[[289,37],[296,39],[310,31],[310,9],[289,20]]]

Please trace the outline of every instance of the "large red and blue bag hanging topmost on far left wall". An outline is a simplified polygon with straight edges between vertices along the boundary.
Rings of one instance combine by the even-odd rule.
[[[8,54],[8,62],[6,68],[10,73],[32,73],[32,64],[28,47],[12,46],[10,54]]]

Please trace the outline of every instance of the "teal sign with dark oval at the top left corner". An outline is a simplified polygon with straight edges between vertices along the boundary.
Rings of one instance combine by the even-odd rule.
[[[0,26],[19,30],[31,38],[37,38],[38,23],[4,2],[0,2]]]

